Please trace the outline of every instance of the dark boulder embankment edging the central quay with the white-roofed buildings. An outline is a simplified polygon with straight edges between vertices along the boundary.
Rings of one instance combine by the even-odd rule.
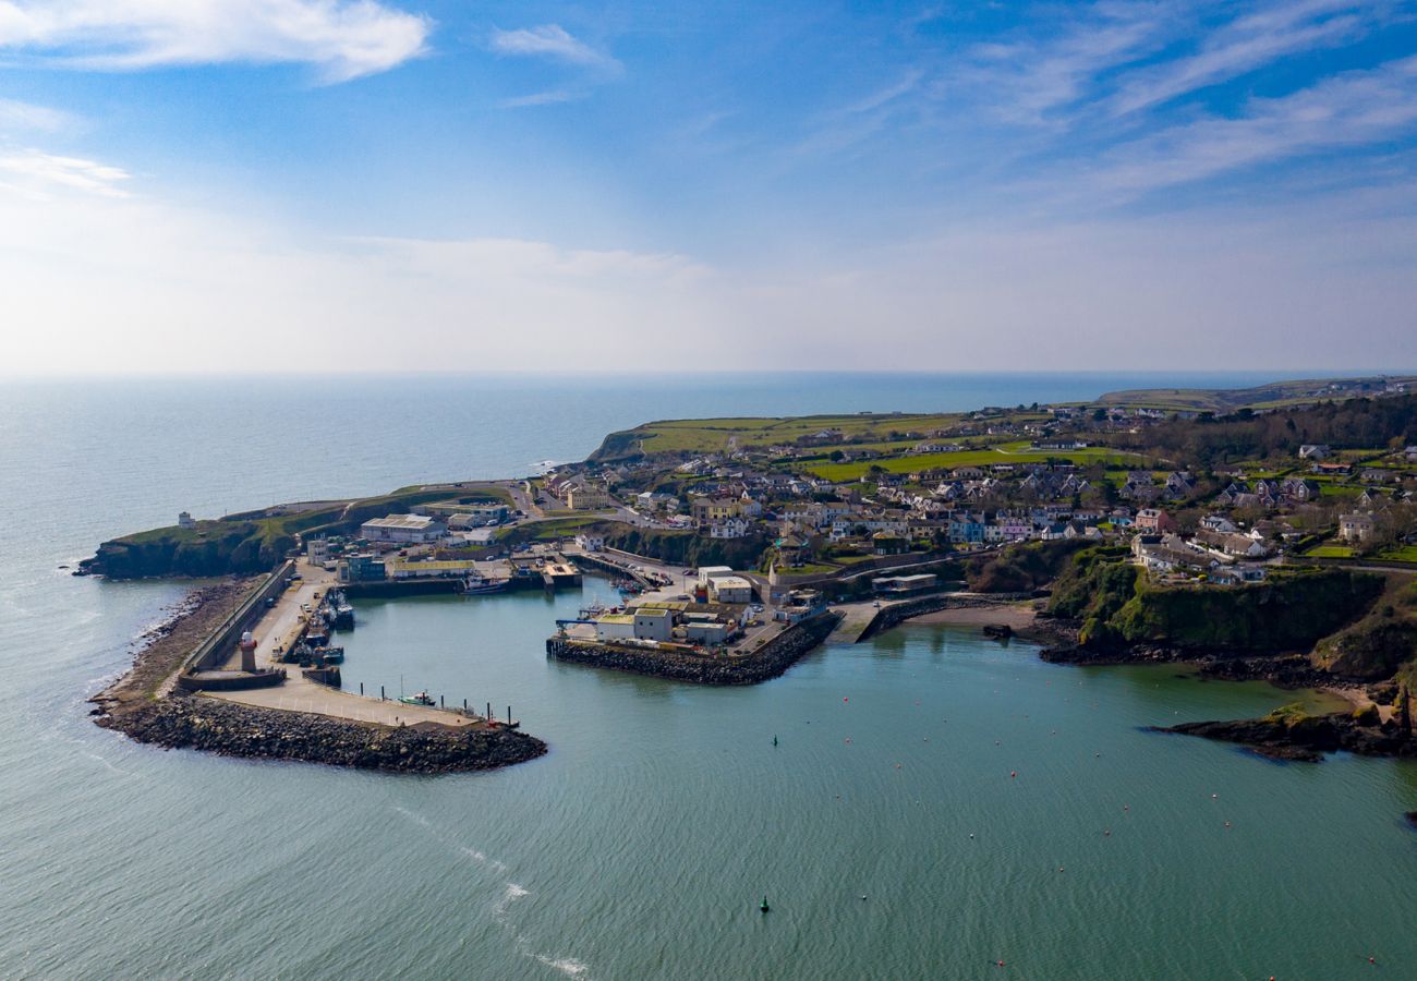
[[[826,612],[782,631],[743,658],[649,651],[606,644],[581,644],[553,637],[546,652],[558,661],[628,671],[697,685],[755,685],[786,672],[836,628],[839,614]]]

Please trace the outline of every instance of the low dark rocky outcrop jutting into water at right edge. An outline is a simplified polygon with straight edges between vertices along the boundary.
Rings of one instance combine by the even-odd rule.
[[[1374,712],[1336,712],[1326,716],[1278,710],[1261,719],[1183,722],[1153,731],[1200,736],[1237,743],[1277,760],[1316,763],[1325,753],[1359,753],[1417,758],[1411,730],[1394,720],[1379,722]]]

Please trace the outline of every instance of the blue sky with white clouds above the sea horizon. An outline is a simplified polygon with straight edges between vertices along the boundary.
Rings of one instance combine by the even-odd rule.
[[[1417,3],[0,0],[0,354],[1410,369],[1414,145]]]

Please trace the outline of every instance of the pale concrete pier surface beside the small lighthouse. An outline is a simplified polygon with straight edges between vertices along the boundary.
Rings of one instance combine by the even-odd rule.
[[[312,682],[300,673],[299,665],[282,665],[275,656],[275,648],[289,646],[289,642],[299,632],[305,617],[300,604],[307,602],[313,610],[319,601],[315,594],[324,594],[326,590],[339,585],[339,577],[327,573],[319,566],[306,561],[299,563],[299,570],[305,576],[295,588],[286,590],[273,608],[256,624],[252,635],[256,638],[256,666],[285,668],[286,682],[275,688],[259,688],[249,692],[208,692],[210,697],[255,705],[262,709],[285,709],[288,712],[310,712],[337,719],[354,719],[359,722],[377,722],[385,726],[417,724],[419,722],[435,722],[444,726],[472,726],[479,720],[469,719],[458,712],[445,712],[419,705],[402,705],[401,702],[380,702],[377,697],[364,697],[350,692]],[[227,662],[228,668],[239,666],[239,656],[232,656]]]

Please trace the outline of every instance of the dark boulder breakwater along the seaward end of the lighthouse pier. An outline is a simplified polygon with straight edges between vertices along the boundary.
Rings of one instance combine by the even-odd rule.
[[[99,724],[164,749],[401,773],[493,770],[547,751],[506,726],[380,726],[196,695],[147,702]]]

